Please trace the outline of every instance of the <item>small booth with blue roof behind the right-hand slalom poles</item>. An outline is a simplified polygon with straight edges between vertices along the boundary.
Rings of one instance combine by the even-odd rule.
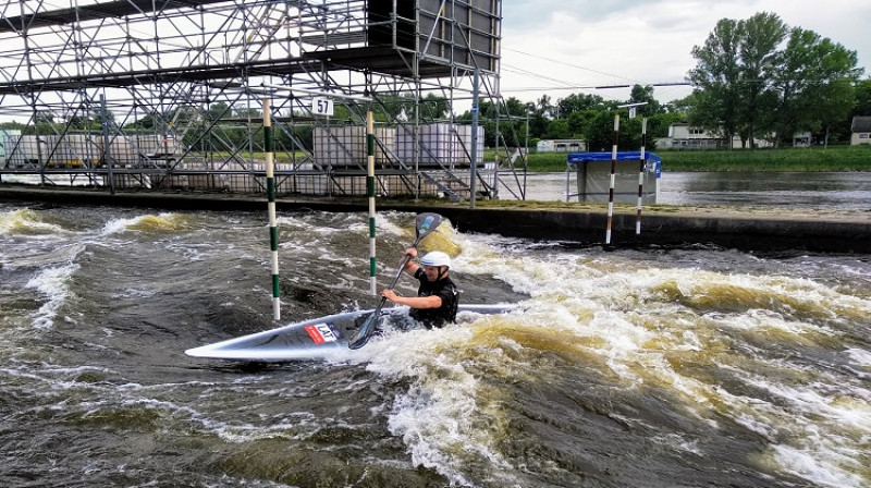
[[[611,190],[611,152],[572,152],[567,156],[565,193],[566,202],[573,196],[578,202],[608,202]],[[617,152],[615,164],[614,202],[635,203],[638,199],[641,152]],[[569,193],[569,179],[577,175],[577,193]],[[645,151],[642,198],[655,204],[659,195],[659,179],[662,176],[662,158]]]

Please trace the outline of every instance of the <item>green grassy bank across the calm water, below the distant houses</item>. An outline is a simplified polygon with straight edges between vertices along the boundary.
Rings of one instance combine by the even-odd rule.
[[[871,171],[871,146],[786,149],[654,150],[663,171]],[[565,154],[531,154],[529,170],[565,171]]]

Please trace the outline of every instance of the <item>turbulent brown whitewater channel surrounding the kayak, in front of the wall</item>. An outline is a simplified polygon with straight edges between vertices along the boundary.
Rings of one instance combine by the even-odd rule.
[[[870,256],[446,223],[424,247],[462,300],[524,312],[330,361],[185,356],[272,327],[265,217],[0,204],[0,486],[871,486]],[[285,322],[375,306],[366,215],[279,229]],[[383,285],[414,216],[377,234]]]

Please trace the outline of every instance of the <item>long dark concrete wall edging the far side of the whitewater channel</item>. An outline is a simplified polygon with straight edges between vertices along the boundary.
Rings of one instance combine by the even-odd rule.
[[[265,211],[265,200],[240,195],[115,193],[93,190],[41,190],[0,186],[0,199],[49,202],[60,205],[110,205],[173,210]],[[366,212],[367,202],[279,199],[281,211],[323,210]],[[577,245],[602,245],[608,216],[604,210],[542,210],[459,207],[439,204],[378,204],[379,211],[434,211],[464,232],[495,233]],[[635,213],[616,213],[612,243],[616,247],[717,245],[744,251],[798,249],[871,253],[871,219],[833,219],[788,215],[744,216],[717,208],[679,215],[642,215],[641,235],[635,235]]]

